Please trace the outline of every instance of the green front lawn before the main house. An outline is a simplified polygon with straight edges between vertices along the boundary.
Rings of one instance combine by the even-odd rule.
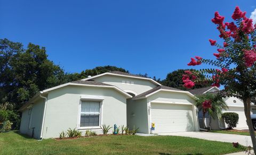
[[[180,136],[108,135],[38,141],[16,132],[0,133],[0,154],[226,154],[231,143]]]

